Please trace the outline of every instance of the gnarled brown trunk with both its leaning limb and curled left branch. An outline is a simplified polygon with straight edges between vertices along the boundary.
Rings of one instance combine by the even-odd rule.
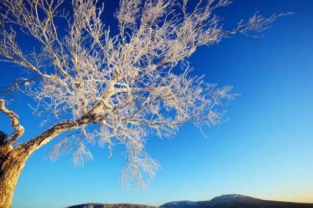
[[[0,99],[0,111],[10,118],[14,129],[14,132],[9,136],[0,131],[0,208],[10,208],[14,188],[29,155],[64,131],[79,128],[90,122],[99,123],[97,117],[94,116],[97,107],[98,105],[79,120],[59,122],[36,138],[13,147],[12,145],[24,133],[24,128],[19,124],[19,117],[12,110],[7,109],[4,106],[4,100]]]

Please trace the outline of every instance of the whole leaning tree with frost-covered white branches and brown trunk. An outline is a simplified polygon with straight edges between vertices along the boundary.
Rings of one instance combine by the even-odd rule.
[[[231,86],[216,87],[190,75],[188,57],[201,45],[220,42],[232,34],[260,37],[277,17],[256,13],[231,30],[212,12],[230,0],[120,0],[114,14],[119,33],[101,21],[103,5],[96,0],[0,0],[1,61],[19,65],[20,78],[1,87],[0,110],[11,120],[13,133],[0,141],[0,207],[9,208],[14,187],[25,161],[36,149],[65,131],[49,154],[55,160],[73,153],[72,161],[83,166],[92,159],[87,143],[126,146],[126,163],[120,181],[144,185],[159,165],[145,151],[150,134],[171,137],[180,125],[217,125],[225,106],[236,94]],[[65,10],[62,10],[65,9]],[[67,28],[58,25],[67,21]],[[19,31],[17,31],[19,29]],[[40,47],[26,52],[16,37],[31,37]],[[24,78],[27,77],[27,78]],[[34,113],[49,118],[67,116],[48,129],[17,143],[24,128],[19,117],[6,108],[5,100],[16,90],[37,103]],[[94,125],[89,131],[89,125]],[[71,149],[74,148],[72,151]],[[143,173],[143,175],[142,175]]]

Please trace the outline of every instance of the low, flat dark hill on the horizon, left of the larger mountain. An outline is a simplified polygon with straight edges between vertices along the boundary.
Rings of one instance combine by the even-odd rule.
[[[74,205],[68,208],[156,208],[147,205],[134,205],[134,204],[99,204],[99,203],[88,203],[82,205]]]

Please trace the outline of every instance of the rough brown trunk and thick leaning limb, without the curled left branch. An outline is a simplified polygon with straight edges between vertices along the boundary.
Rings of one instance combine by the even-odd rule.
[[[0,208],[10,208],[14,188],[25,162],[36,149],[45,145],[60,133],[76,129],[83,124],[89,123],[92,119],[92,116],[84,116],[80,120],[60,122],[20,146],[12,147],[12,140],[6,143],[0,140]]]

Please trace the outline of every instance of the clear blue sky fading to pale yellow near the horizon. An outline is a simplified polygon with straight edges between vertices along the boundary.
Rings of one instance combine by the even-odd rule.
[[[118,1],[106,0],[105,6],[104,21],[114,28]],[[192,55],[194,73],[205,74],[206,82],[233,85],[241,96],[228,107],[229,121],[204,129],[208,139],[192,125],[183,125],[170,140],[150,137],[147,151],[162,169],[148,190],[123,191],[119,186],[123,146],[113,149],[110,159],[106,149],[91,146],[94,161],[74,169],[70,156],[52,164],[44,160],[54,140],[27,160],[12,208],[89,202],[161,205],[230,193],[313,203],[313,1],[234,0],[216,13],[231,27],[256,11],[296,14],[274,22],[263,39],[237,35]],[[6,83],[15,69],[0,66],[0,83]],[[26,129],[21,140],[47,127],[39,127],[41,118],[31,116],[31,102],[20,96],[9,105]],[[10,133],[3,114],[0,121],[1,130]]]

